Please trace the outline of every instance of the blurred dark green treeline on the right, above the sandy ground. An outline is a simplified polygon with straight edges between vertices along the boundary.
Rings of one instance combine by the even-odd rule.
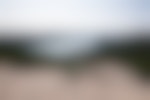
[[[133,63],[145,78],[150,76],[149,37],[137,38],[132,42],[108,43],[104,49],[106,56],[117,57]]]

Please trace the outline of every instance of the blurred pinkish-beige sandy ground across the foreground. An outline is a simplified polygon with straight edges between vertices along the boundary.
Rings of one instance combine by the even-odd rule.
[[[0,100],[150,100],[150,87],[119,63],[107,62],[73,77],[59,69],[9,66],[1,63]]]

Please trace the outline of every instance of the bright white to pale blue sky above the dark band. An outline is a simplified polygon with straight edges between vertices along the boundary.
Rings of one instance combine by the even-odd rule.
[[[147,1],[0,0],[0,28],[132,29],[148,20]]]

